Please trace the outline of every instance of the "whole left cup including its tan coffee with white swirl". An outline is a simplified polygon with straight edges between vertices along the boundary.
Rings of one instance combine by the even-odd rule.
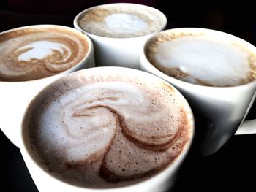
[[[37,25],[1,32],[0,54],[0,128],[19,147],[29,101],[64,74],[94,66],[94,48],[74,28]]]

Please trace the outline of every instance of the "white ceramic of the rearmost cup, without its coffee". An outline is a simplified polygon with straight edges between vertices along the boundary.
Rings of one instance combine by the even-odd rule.
[[[161,18],[162,26],[160,26],[157,31],[151,34],[146,34],[140,37],[127,37],[127,38],[114,38],[114,37],[103,37],[96,34],[91,34],[90,32],[84,30],[79,25],[79,20],[86,12],[91,9],[100,7],[131,7],[131,9],[148,9],[153,14],[150,15],[151,20],[154,20],[154,15]],[[83,33],[87,34],[92,42],[94,43],[95,49],[95,63],[96,66],[124,66],[133,69],[139,69],[140,66],[140,52],[143,49],[144,42],[165,28],[167,24],[167,18],[165,15],[153,7],[144,6],[141,4],[103,4],[97,7],[91,7],[89,9],[80,12],[74,20],[74,26]]]

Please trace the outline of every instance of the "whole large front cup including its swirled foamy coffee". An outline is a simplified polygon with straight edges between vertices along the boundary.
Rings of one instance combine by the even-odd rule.
[[[45,87],[21,134],[39,191],[166,191],[191,146],[194,118],[168,82],[105,66]]]

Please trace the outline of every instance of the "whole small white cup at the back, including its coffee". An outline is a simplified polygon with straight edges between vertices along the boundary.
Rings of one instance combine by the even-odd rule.
[[[139,69],[144,42],[162,31],[165,15],[141,4],[102,4],[80,12],[74,20],[78,30],[91,37],[96,66]]]

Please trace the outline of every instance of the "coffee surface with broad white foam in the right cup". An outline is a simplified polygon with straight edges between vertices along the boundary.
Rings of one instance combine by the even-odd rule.
[[[166,31],[151,39],[146,58],[161,72],[197,85],[227,87],[256,79],[256,52],[238,38],[203,31]]]

